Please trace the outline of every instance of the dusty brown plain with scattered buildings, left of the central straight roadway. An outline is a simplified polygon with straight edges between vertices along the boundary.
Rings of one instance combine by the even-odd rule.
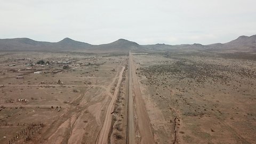
[[[106,118],[124,140],[126,70],[123,56],[1,53],[1,143],[95,143]]]

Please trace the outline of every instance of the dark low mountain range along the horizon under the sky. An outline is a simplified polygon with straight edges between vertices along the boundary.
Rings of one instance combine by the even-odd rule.
[[[90,52],[90,53],[113,53],[113,52],[155,52],[155,51],[243,51],[256,52],[256,35],[239,36],[228,43],[202,44],[153,44],[139,45],[138,43],[118,39],[108,44],[92,45],[78,42],[70,38],[64,38],[59,42],[40,42],[29,38],[0,39],[0,51],[42,51],[42,52]]]

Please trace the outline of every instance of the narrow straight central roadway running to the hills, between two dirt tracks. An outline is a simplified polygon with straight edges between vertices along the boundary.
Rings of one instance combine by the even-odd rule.
[[[134,115],[133,115],[133,97],[132,97],[132,55],[129,53],[129,95],[128,95],[128,116],[127,116],[127,143],[135,143],[134,138]]]

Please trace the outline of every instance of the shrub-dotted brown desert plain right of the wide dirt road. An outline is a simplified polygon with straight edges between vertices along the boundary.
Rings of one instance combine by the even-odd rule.
[[[134,55],[156,143],[254,143],[256,55]]]

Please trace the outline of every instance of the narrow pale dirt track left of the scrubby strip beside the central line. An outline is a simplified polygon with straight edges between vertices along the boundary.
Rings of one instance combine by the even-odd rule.
[[[114,92],[113,98],[111,99],[111,101],[109,103],[109,106],[108,106],[108,109],[106,112],[106,117],[105,117],[104,123],[102,125],[97,143],[108,143],[108,133],[110,130],[111,120],[112,120],[111,112],[114,110],[114,107],[115,107],[114,102],[116,101],[119,87],[122,82],[124,69],[125,69],[125,67],[122,67],[122,70],[119,73],[119,79],[117,82],[117,86],[115,87],[115,92]]]

